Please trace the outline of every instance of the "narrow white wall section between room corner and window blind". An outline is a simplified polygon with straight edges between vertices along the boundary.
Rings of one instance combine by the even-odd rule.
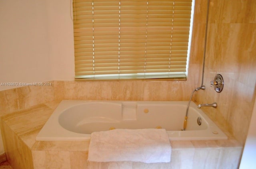
[[[52,80],[74,80],[72,0],[47,0]],[[61,4],[61,5],[60,5]]]

